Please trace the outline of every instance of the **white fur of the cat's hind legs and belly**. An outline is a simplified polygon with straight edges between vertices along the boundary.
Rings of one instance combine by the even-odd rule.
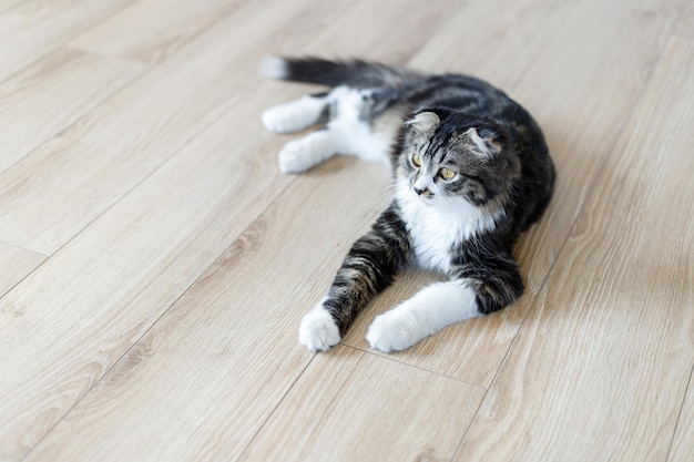
[[[365,92],[337,86],[325,97],[304,96],[265,111],[263,124],[276,133],[307,129],[318,122],[327,104],[337,113],[325,130],[287,143],[279,152],[280,170],[285,173],[304,172],[336,154],[388,164],[395,130],[374,132],[368,123],[360,120]]]

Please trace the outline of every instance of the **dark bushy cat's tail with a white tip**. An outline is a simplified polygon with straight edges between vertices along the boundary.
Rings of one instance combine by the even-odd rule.
[[[399,86],[416,72],[361,60],[330,61],[320,58],[268,57],[263,61],[265,76],[327,86]]]

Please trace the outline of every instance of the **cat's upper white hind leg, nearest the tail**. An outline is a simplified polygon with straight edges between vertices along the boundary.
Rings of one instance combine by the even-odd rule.
[[[273,133],[294,133],[327,121],[329,94],[305,95],[263,113],[263,125]]]

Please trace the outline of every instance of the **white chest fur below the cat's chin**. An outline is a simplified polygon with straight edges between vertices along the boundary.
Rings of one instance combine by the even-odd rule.
[[[398,182],[396,198],[412,239],[415,263],[426,269],[448,273],[452,248],[494,226],[493,217],[463,198],[421,198],[406,179]]]

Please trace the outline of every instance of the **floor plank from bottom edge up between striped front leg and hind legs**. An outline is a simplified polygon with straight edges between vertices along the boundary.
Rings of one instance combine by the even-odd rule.
[[[237,460],[314,356],[296,332],[339,265],[336,247],[370,220],[370,193],[341,173],[387,181],[339,161],[293,182],[27,461]],[[346,209],[360,219],[340,220]]]

